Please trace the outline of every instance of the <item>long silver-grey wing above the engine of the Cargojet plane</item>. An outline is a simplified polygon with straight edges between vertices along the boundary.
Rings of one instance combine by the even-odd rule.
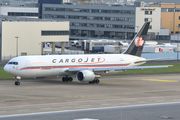
[[[76,73],[81,70],[91,70],[93,72],[102,72],[102,71],[120,71],[120,70],[134,70],[134,69],[149,69],[149,68],[168,68],[173,65],[161,65],[161,66],[137,66],[137,67],[105,67],[105,68],[70,68],[66,72]]]

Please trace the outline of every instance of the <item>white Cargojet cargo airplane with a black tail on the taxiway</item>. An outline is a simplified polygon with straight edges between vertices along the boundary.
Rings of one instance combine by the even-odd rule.
[[[47,77],[64,76],[63,82],[72,82],[76,79],[80,82],[99,83],[103,73],[113,71],[125,71],[130,69],[167,68],[163,66],[139,66],[147,61],[157,59],[145,59],[141,57],[144,35],[147,35],[150,22],[145,22],[134,36],[128,48],[122,54],[84,54],[84,55],[41,55],[19,56],[11,59],[4,71],[14,76],[15,85],[20,85],[21,77]]]

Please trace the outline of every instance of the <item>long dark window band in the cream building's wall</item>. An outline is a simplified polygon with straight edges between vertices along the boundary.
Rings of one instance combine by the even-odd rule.
[[[69,31],[41,31],[41,35],[69,35]]]

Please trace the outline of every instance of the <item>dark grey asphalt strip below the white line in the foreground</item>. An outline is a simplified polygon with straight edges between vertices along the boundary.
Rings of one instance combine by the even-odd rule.
[[[0,120],[180,120],[179,110],[180,103],[166,103],[0,116]]]

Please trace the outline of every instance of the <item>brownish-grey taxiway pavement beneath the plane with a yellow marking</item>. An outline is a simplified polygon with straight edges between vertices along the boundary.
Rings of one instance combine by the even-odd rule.
[[[60,78],[0,81],[0,116],[180,101],[179,74],[102,76],[100,84]],[[173,111],[172,111],[173,112]]]

